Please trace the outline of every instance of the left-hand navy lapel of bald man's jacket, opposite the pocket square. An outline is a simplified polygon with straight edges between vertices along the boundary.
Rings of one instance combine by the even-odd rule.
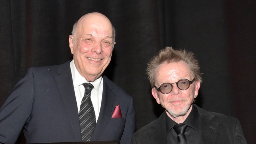
[[[58,73],[60,75],[56,76],[55,79],[60,90],[66,113],[68,115],[75,138],[77,141],[82,141],[78,117],[79,114],[77,110],[73,80],[69,63],[70,61],[60,65],[60,68],[58,70]]]

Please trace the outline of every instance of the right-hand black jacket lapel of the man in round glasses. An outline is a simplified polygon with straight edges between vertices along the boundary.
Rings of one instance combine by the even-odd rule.
[[[214,115],[206,112],[205,110],[197,107],[199,112],[199,121],[200,121],[200,143],[205,144],[214,144],[218,132],[218,123],[211,121],[214,118]]]

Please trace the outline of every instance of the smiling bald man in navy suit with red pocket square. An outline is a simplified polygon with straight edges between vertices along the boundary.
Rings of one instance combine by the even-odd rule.
[[[0,143],[15,143],[23,130],[26,143],[114,141],[131,143],[135,131],[133,99],[102,73],[111,60],[115,29],[100,13],[89,13],[73,26],[73,60],[29,68],[0,109]],[[84,140],[79,113],[90,83],[96,126]],[[115,115],[117,113],[117,115]],[[82,125],[82,124],[81,124]]]

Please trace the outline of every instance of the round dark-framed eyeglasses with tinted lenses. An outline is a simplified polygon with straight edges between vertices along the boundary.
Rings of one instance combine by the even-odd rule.
[[[187,79],[181,79],[175,83],[180,90],[187,90],[189,88],[190,84],[192,84],[194,82],[194,80],[195,79],[193,79],[192,81],[187,80]],[[160,91],[163,94],[168,94],[173,90],[173,84],[175,84],[175,83],[163,83],[159,88],[157,88],[156,86],[154,88],[156,88],[157,91]]]

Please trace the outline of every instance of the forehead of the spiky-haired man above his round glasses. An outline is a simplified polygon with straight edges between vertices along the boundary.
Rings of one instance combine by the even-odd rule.
[[[191,75],[189,66],[184,61],[163,63],[156,72],[158,81],[177,81],[182,78],[189,78]]]

